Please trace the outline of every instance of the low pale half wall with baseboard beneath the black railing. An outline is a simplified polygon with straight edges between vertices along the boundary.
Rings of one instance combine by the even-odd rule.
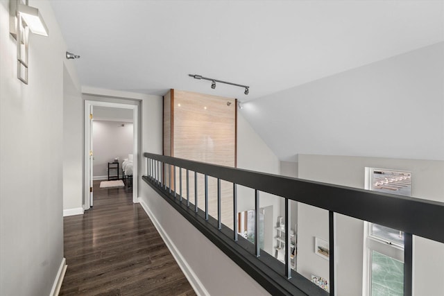
[[[141,203],[161,225],[159,230],[168,234],[171,241],[167,244],[182,258],[181,268],[198,295],[269,295],[148,184],[142,182],[140,187]]]

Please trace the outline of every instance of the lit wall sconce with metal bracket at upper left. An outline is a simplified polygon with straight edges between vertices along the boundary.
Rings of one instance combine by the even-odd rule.
[[[17,40],[17,78],[28,84],[29,31],[48,36],[48,27],[37,8],[28,6],[28,0],[9,1],[9,31]]]

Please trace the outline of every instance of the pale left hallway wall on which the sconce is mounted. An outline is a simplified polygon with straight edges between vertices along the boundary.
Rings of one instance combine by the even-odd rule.
[[[49,295],[63,262],[64,64],[76,74],[49,1],[29,4],[49,37],[30,34],[24,85],[0,0],[0,295]]]

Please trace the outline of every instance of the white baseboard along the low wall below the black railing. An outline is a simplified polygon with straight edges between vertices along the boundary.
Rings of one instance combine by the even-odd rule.
[[[173,254],[174,259],[176,259],[176,262],[178,263],[180,269],[184,273],[185,277],[187,277],[189,284],[191,284],[191,287],[193,287],[194,289],[194,292],[198,296],[210,295],[207,289],[205,289],[205,286],[203,286],[202,282],[200,282],[194,271],[191,269],[185,258],[182,256],[182,254],[180,254],[180,249],[176,247],[173,241],[171,241],[171,238],[168,236],[167,232],[164,231],[162,225],[160,225],[159,221],[157,221],[153,212],[151,212],[145,201],[142,198],[138,198],[138,202],[142,205],[142,208],[144,208],[146,214],[153,222],[155,229],[157,229],[157,232],[159,232],[160,236],[162,236],[164,243],[167,245],[171,254]]]

